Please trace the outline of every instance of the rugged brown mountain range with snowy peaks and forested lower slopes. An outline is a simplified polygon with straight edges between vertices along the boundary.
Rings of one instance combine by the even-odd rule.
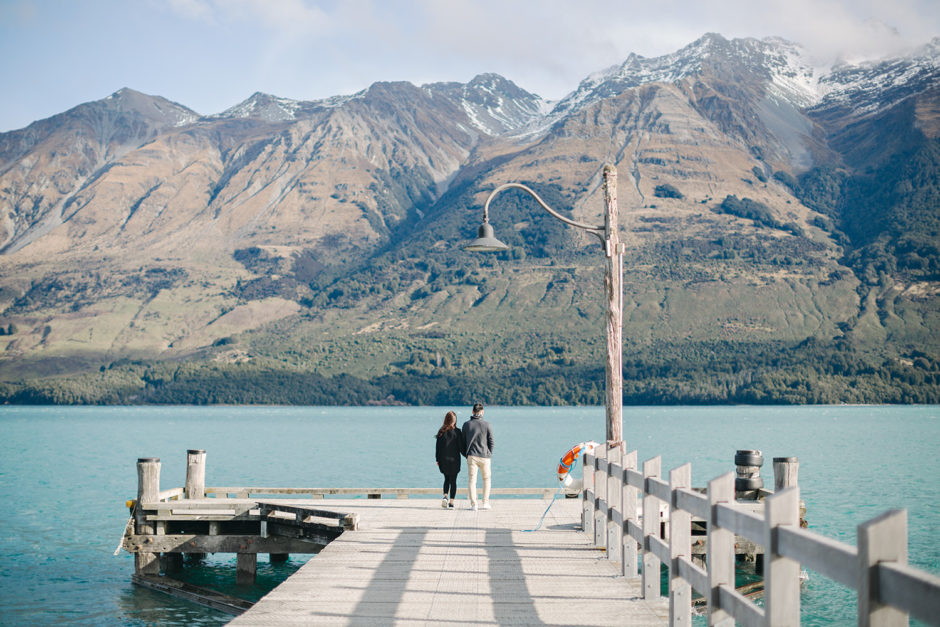
[[[707,34],[557,102],[481,74],[0,134],[8,402],[597,403],[618,169],[627,402],[940,400],[940,38],[818,68]]]

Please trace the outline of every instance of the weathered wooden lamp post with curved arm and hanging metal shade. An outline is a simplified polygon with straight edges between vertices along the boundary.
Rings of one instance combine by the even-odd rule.
[[[490,201],[496,194],[507,189],[521,189],[539,205],[565,224],[596,235],[606,258],[604,266],[604,288],[607,301],[607,443],[609,446],[623,440],[623,244],[620,242],[619,211],[617,209],[617,169],[610,164],[604,166],[604,224],[594,226],[575,222],[564,217],[542,200],[532,189],[520,183],[506,183],[494,189],[483,205],[483,224],[477,239],[464,246],[470,252],[496,252],[509,246],[496,239],[490,225]]]

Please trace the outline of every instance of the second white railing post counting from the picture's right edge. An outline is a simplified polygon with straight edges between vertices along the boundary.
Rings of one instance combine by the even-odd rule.
[[[774,462],[776,468],[776,461]],[[777,529],[800,527],[800,489],[786,488],[764,501],[764,616],[768,627],[799,627],[800,563],[780,554]]]

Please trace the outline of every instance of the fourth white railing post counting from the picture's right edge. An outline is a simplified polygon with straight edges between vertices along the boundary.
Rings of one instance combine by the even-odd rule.
[[[669,471],[669,623],[673,627],[692,624],[692,586],[679,576],[679,558],[692,560],[692,514],[676,506],[676,491],[692,487],[692,464]]]

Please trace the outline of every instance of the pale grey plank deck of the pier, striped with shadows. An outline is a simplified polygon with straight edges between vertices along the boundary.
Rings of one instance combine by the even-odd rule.
[[[664,625],[668,601],[642,599],[580,531],[581,501],[329,499],[355,512],[344,533],[231,624]]]

